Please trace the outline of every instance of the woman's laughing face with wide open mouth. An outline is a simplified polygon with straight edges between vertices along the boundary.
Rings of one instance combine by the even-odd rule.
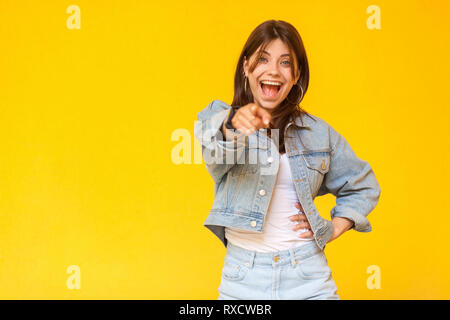
[[[296,57],[291,56],[289,47],[280,39],[275,39],[267,45],[256,68],[250,73],[249,66],[256,59],[258,50],[249,61],[244,60],[244,72],[248,77],[254,102],[271,112],[289,94],[300,73],[297,70]],[[291,64],[294,64],[295,78],[291,75]],[[275,81],[279,85],[263,84],[262,81]]]

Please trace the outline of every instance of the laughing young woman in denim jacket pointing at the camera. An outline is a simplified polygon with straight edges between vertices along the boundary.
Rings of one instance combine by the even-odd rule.
[[[195,136],[215,183],[205,226],[227,248],[219,299],[339,299],[325,245],[349,229],[371,231],[373,170],[299,106],[308,80],[297,30],[266,21],[242,50],[231,106],[214,100],[198,114]],[[327,193],[336,196],[331,221],[313,202]]]

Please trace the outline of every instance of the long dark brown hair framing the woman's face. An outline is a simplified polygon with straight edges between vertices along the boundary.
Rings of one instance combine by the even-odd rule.
[[[300,107],[300,102],[303,100],[303,97],[308,90],[308,59],[306,57],[302,38],[297,29],[290,23],[281,20],[268,20],[257,26],[250,34],[237,63],[236,73],[234,75],[234,97],[231,106],[241,107],[254,102],[249,83],[247,83],[247,91],[244,90],[245,81],[248,81],[246,80],[247,78],[244,77],[244,58],[250,59],[253,53],[261,46],[260,50],[257,52],[257,58],[249,66],[249,71],[253,72],[262,56],[262,51],[275,39],[283,41],[289,47],[291,54],[294,53],[293,56],[296,58],[296,63],[291,64],[292,77],[295,78],[295,65],[300,71],[300,78],[297,84],[292,87],[291,91],[280,105],[272,111],[270,128],[279,129],[279,151],[284,153],[284,130],[289,123],[289,118],[292,116],[292,120],[295,120],[296,117],[300,117],[302,120],[303,115],[309,115],[308,112]],[[300,86],[303,89],[303,94]],[[296,124],[294,123],[293,126],[296,126]]]

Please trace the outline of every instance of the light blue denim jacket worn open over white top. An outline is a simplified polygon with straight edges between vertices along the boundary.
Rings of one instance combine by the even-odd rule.
[[[262,232],[280,161],[278,148],[265,129],[224,140],[221,128],[230,108],[221,100],[212,101],[198,113],[194,127],[214,181],[214,201],[204,226],[225,246],[225,227]],[[367,215],[376,206],[381,190],[369,163],[358,158],[345,138],[319,117],[310,114],[294,121],[300,128],[291,126],[290,118],[285,150],[317,245],[325,248],[333,235],[333,224],[320,216],[313,201],[316,196],[333,194],[336,205],[331,218],[348,218],[354,223],[352,229],[371,231]]]

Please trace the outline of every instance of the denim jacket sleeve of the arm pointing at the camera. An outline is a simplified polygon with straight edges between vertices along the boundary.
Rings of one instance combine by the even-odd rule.
[[[221,128],[227,119],[231,106],[221,100],[212,101],[197,114],[194,135],[202,147],[202,157],[215,183],[231,169],[245,150],[246,136],[241,134],[235,140],[224,140]]]

